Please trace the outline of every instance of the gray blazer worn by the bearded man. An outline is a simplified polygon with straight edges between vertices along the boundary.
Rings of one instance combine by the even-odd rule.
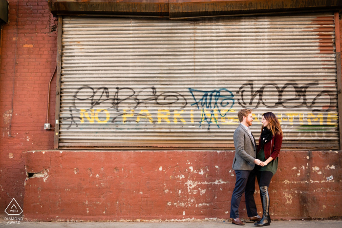
[[[234,146],[235,157],[233,160],[233,169],[252,170],[255,166],[254,160],[256,159],[256,140],[242,124],[235,129]]]

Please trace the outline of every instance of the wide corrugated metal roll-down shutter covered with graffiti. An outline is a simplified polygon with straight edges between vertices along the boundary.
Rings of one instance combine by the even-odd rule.
[[[63,19],[59,146],[234,147],[237,111],[284,148],[338,148],[333,14]]]

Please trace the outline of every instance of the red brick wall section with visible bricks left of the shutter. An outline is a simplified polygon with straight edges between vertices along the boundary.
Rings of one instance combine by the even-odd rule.
[[[17,4],[17,0],[9,0],[9,21],[3,26],[1,37],[0,213],[4,213],[13,197],[22,206],[26,178],[23,152],[53,148],[53,132],[44,130],[43,124],[48,83],[56,66],[57,33],[51,32],[55,19],[46,0],[19,0],[18,12]],[[54,80],[50,101],[52,123],[55,91]]]

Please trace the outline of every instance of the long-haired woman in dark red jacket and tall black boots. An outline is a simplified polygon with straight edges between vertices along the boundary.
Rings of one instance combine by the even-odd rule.
[[[282,130],[275,114],[272,112],[264,113],[261,123],[261,135],[256,150],[256,159],[259,159],[261,163],[255,167],[263,209],[261,220],[254,224],[258,227],[268,226],[271,222],[268,187],[278,168],[278,157],[282,143]]]

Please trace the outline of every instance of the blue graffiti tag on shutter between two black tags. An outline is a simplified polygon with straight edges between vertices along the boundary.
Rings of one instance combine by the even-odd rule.
[[[218,120],[214,115],[214,109],[216,108],[218,111],[218,114],[221,117],[226,116],[226,114],[229,112],[229,110],[233,107],[235,103],[235,99],[233,99],[234,95],[231,91],[225,88],[220,88],[218,90],[210,90],[210,91],[203,91],[203,90],[197,90],[189,88],[190,93],[192,94],[193,100],[195,103],[191,105],[196,105],[197,109],[202,109],[201,111],[201,121],[199,122],[199,127],[201,127],[202,123],[206,121],[208,123],[208,130],[210,128],[210,124],[212,122],[212,117],[214,117],[214,122],[217,125],[218,128],[220,128],[218,124]],[[229,94],[229,95],[222,95],[223,94]],[[198,96],[199,94],[199,96]],[[198,96],[196,99],[196,95]],[[227,106],[229,107],[228,110],[223,113],[222,109],[227,109]],[[205,109],[208,109],[210,111],[210,118],[207,118],[207,115],[205,113]],[[207,110],[207,111],[208,111]],[[208,120],[209,119],[209,120]]]

